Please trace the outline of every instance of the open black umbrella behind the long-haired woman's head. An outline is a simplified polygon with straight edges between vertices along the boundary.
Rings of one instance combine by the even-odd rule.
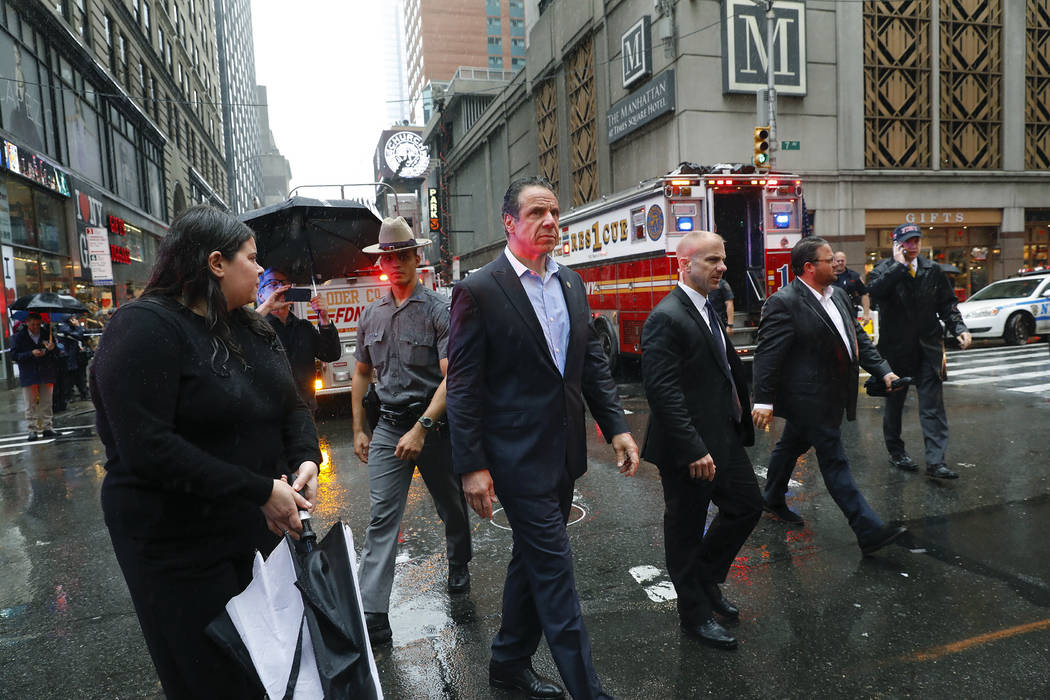
[[[350,199],[291,197],[239,216],[255,232],[259,264],[295,283],[348,277],[375,260],[361,252],[379,241],[379,217]]]

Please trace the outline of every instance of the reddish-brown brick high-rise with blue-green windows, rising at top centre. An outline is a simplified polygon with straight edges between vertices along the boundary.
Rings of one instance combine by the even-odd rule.
[[[429,82],[460,67],[510,73],[525,65],[525,0],[403,0],[412,119],[424,124]]]

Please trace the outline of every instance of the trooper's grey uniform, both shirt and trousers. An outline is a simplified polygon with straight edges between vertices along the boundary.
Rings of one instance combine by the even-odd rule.
[[[383,409],[403,416],[396,421],[381,410],[369,447],[371,515],[358,572],[368,613],[385,613],[390,607],[397,534],[416,467],[445,524],[449,566],[465,566],[470,560],[466,501],[459,476],[453,472],[447,430],[428,431],[415,461],[394,453],[444,379],[440,361],[447,352],[448,301],[422,283],[416,284],[400,306],[387,292],[361,314],[354,356],[375,369],[376,394]]]

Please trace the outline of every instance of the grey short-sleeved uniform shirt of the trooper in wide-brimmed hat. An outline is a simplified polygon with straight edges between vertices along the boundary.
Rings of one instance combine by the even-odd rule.
[[[357,324],[354,357],[375,368],[376,394],[386,406],[429,403],[447,354],[448,301],[421,283],[400,306],[387,292]]]

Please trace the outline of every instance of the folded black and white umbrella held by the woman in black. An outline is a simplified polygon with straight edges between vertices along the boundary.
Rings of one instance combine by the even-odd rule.
[[[208,636],[271,698],[381,700],[353,535],[339,522],[316,542],[309,522],[298,544],[286,535],[265,563],[256,557],[252,584]]]

